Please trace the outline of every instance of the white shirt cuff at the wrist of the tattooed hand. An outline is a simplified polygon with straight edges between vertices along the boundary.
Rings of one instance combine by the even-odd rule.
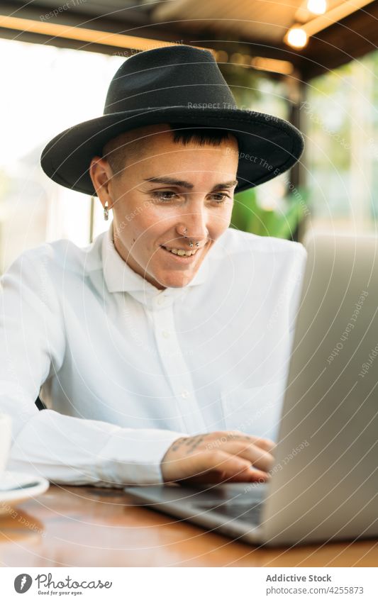
[[[98,457],[102,486],[162,484],[165,453],[179,437],[188,436],[172,430],[116,427]]]

